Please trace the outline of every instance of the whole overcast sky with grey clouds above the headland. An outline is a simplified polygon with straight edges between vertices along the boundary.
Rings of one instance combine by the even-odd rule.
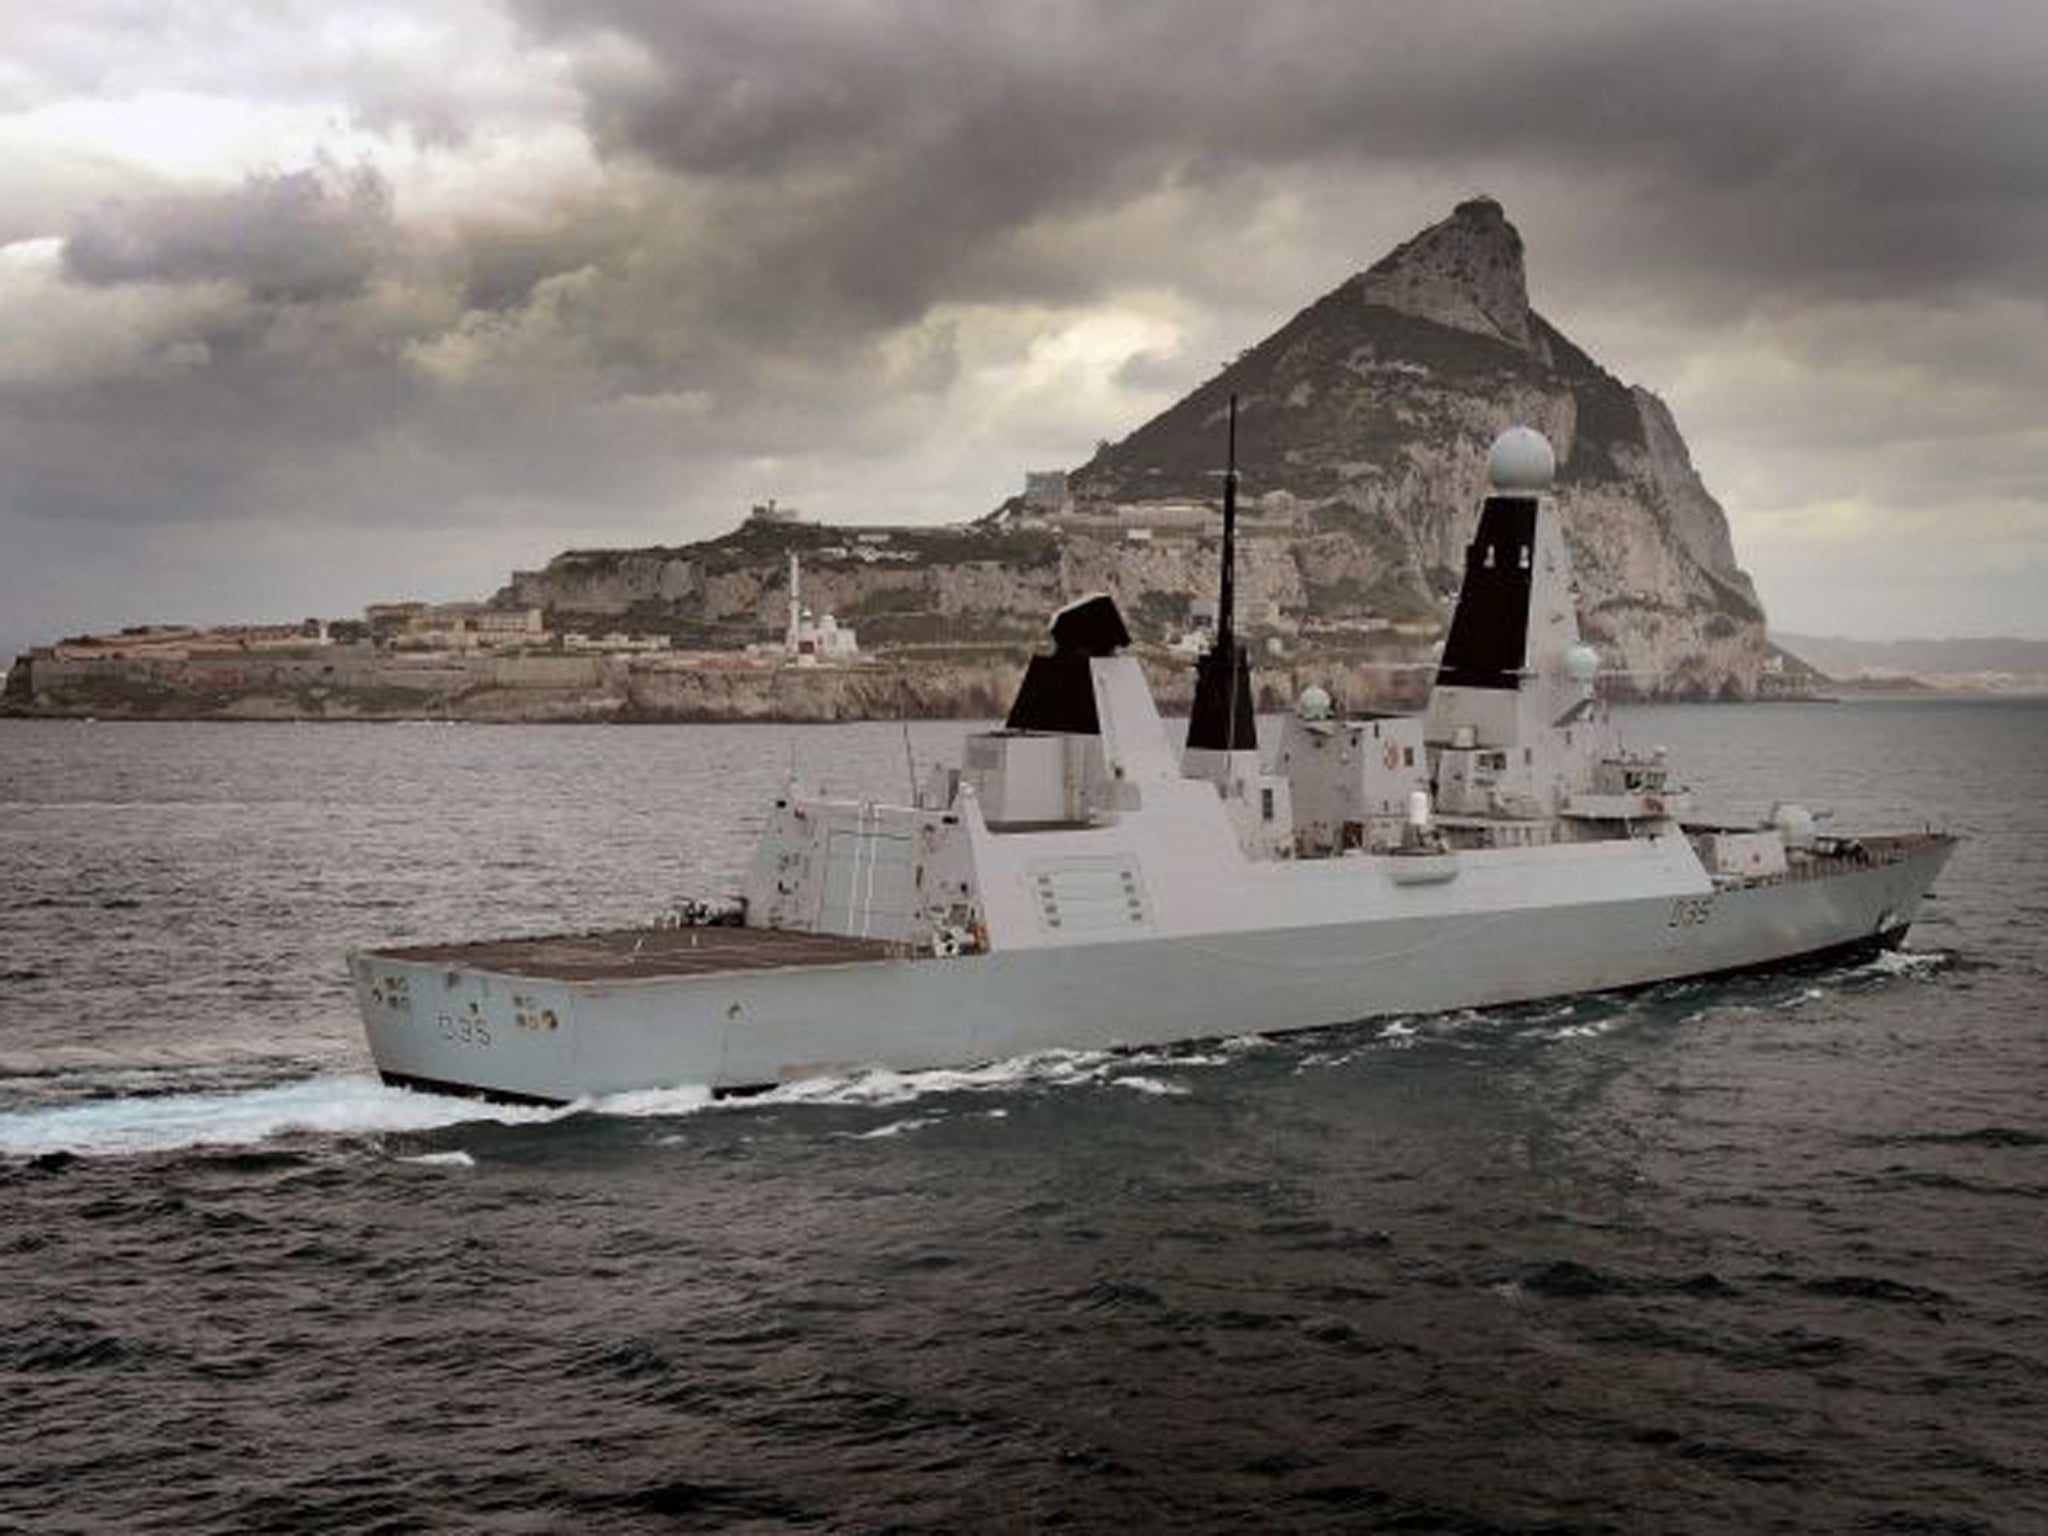
[[[0,0],[0,643],[975,516],[1473,193],[1776,627],[2048,635],[2036,0]]]

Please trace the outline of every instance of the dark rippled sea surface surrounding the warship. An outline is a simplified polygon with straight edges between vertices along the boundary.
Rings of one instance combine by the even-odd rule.
[[[541,1112],[342,952],[645,920],[899,727],[0,721],[0,1530],[2048,1530],[2048,702],[1626,727],[1964,834],[1909,952]]]

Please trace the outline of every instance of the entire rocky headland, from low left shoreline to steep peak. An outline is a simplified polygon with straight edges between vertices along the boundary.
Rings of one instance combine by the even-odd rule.
[[[659,657],[31,655],[14,713],[291,719],[858,719],[999,713],[1047,614],[1114,592],[1161,702],[1188,694],[1186,637],[1217,588],[1223,416],[1239,395],[1241,625],[1262,698],[1411,702],[1454,596],[1491,438],[1540,428],[1616,690],[1745,698],[1769,645],[1729,524],[1661,399],[1604,371],[1530,307],[1522,238],[1462,203],[1317,299],[1217,377],[1069,475],[952,526],[754,516],[719,539],[578,549],[492,598],[569,633],[659,637]],[[776,666],[788,555],[803,598],[856,627],[860,659]],[[1174,649],[1176,641],[1182,649]]]

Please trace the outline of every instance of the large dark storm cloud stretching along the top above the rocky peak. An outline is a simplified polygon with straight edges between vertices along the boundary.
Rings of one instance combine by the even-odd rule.
[[[1626,215],[1620,258],[1722,303],[2028,281],[2048,203],[2028,4],[520,8],[637,39],[645,68],[582,78],[598,139],[774,184],[723,238],[883,319],[987,283],[1034,221],[1247,168],[1569,172],[1559,221]]]

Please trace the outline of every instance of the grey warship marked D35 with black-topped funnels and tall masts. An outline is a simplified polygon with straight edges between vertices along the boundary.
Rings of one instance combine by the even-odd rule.
[[[657,926],[365,948],[387,1083],[567,1104],[1489,1008],[1896,946],[1954,850],[1794,803],[1694,813],[1579,637],[1556,461],[1503,432],[1417,715],[1303,692],[1260,750],[1217,627],[1176,748],[1110,596],[1061,608],[1001,729],[909,805],[774,801],[737,899]]]

